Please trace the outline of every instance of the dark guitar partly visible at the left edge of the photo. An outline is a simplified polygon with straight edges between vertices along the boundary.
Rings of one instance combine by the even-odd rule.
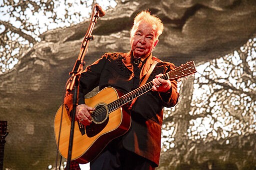
[[[8,135],[7,121],[0,121],[0,170],[3,168],[5,137]]]

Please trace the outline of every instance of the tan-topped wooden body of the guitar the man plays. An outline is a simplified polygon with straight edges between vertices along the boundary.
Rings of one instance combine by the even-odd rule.
[[[117,100],[120,96],[121,93],[114,88],[106,87],[95,96],[86,98],[85,104],[97,110],[98,107],[105,106]],[[61,114],[62,110],[63,114]],[[71,160],[80,164],[92,161],[111,140],[125,134],[130,124],[131,118],[129,113],[125,112],[121,107],[111,113],[107,113],[105,120],[93,122],[90,126],[84,127],[85,134],[80,132],[79,125],[75,121]],[[68,155],[70,127],[71,118],[65,108],[62,109],[62,106],[60,106],[54,119],[54,134],[59,153],[65,159],[67,159]]]

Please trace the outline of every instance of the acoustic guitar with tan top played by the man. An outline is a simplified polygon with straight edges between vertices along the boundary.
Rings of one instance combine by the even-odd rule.
[[[178,79],[195,72],[194,62],[190,61],[169,71],[161,78]],[[122,107],[150,91],[152,86],[151,81],[125,95],[112,87],[106,87],[96,95],[85,98],[85,104],[96,110],[91,113],[91,125],[84,127],[80,122],[75,122],[71,160],[86,164],[97,157],[111,140],[125,134],[130,127],[131,118]],[[68,153],[70,126],[70,115],[61,105],[54,118],[54,135],[58,151],[65,159]]]

